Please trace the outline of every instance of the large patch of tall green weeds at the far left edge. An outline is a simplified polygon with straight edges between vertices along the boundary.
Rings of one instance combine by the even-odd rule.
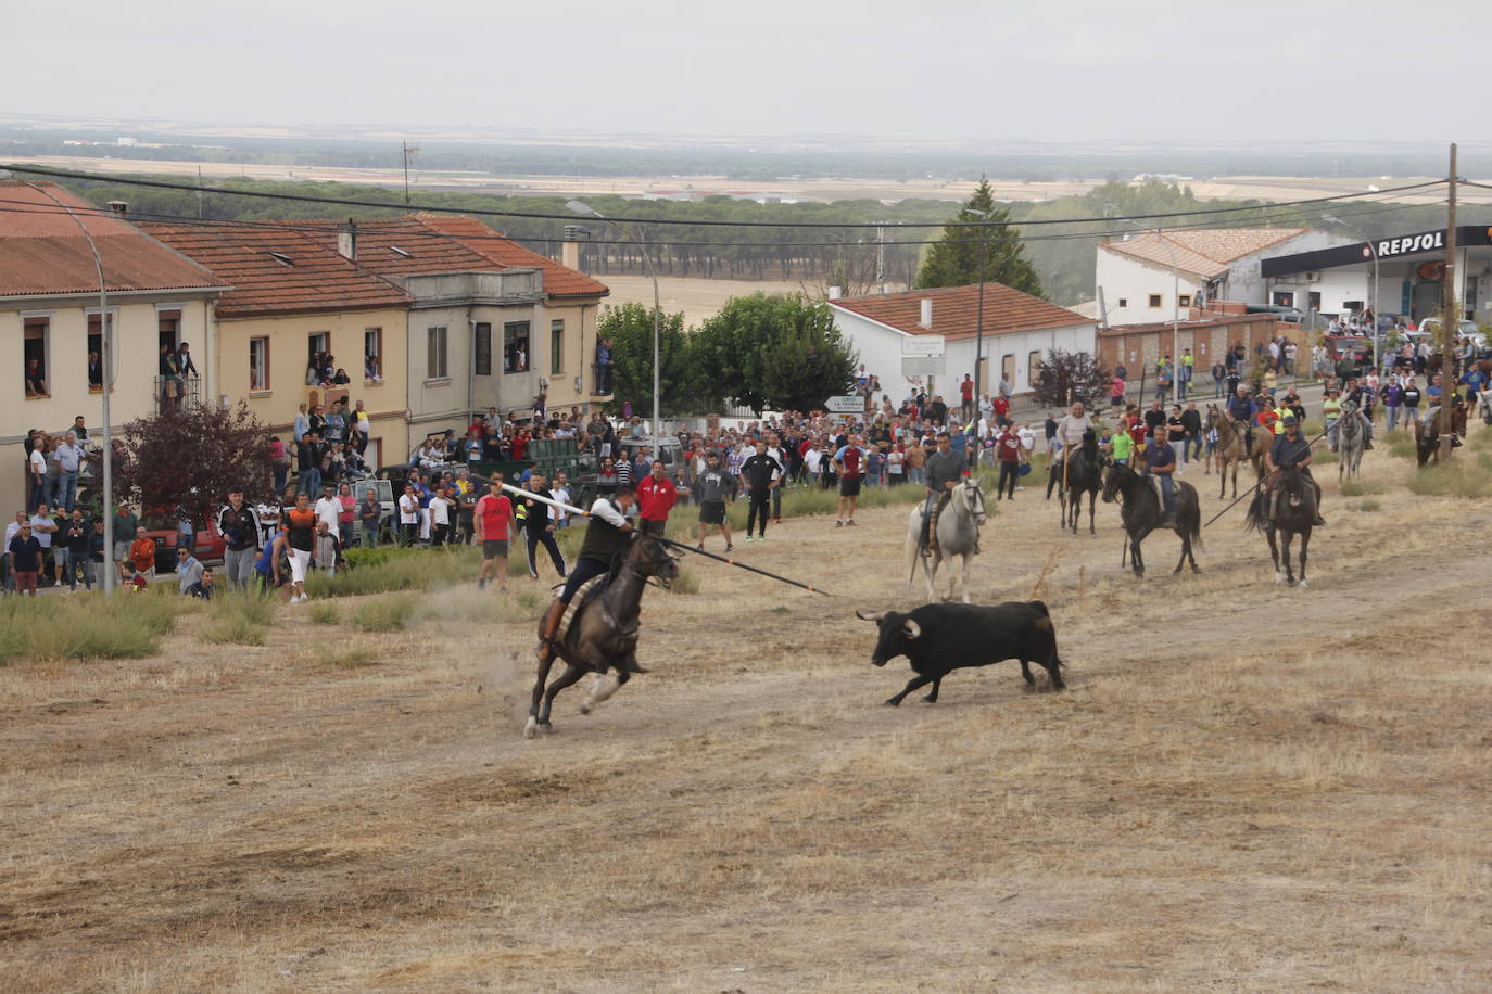
[[[0,601],[0,665],[154,656],[184,607],[175,590],[170,596],[6,598]]]

